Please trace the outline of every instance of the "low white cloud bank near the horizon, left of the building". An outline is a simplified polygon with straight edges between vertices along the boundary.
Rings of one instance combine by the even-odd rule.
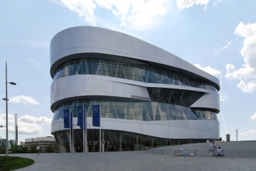
[[[0,124],[5,126],[5,114],[0,114]],[[8,130],[14,133],[14,115],[8,114]],[[47,117],[34,117],[25,115],[18,118],[18,134],[41,134],[43,128],[40,124],[51,124],[51,119]],[[5,131],[5,128],[1,128]]]

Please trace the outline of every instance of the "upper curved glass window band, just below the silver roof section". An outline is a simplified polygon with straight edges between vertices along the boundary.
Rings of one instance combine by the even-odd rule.
[[[215,85],[211,83],[195,80],[161,67],[145,64],[128,64],[95,58],[80,58],[65,62],[57,67],[53,81],[69,75],[82,74],[104,75],[107,77],[141,81],[143,83],[192,86],[217,91]]]

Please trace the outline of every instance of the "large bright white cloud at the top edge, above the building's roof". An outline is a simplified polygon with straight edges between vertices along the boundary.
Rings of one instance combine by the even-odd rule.
[[[120,19],[120,27],[145,30],[159,24],[159,19],[168,11],[169,0],[49,0],[76,13],[93,26],[101,24],[95,9],[107,9]]]

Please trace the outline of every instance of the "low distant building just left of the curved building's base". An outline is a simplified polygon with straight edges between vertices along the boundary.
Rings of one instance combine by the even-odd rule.
[[[38,140],[39,139],[39,140]],[[53,147],[55,149],[55,152],[59,153],[59,146],[57,145],[55,138],[52,136],[47,137],[37,137],[37,138],[26,138],[25,139],[25,145],[30,149],[33,146],[39,145],[41,147],[41,150],[43,153],[45,152],[45,147],[49,144],[53,144]]]

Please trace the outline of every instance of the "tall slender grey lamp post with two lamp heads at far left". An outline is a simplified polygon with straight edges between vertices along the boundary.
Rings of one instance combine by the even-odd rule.
[[[6,104],[6,156],[9,155],[9,142],[8,142],[8,98],[7,98],[7,62],[5,64],[5,98],[3,98],[3,100],[5,100],[5,104]],[[16,85],[16,83],[14,82],[10,82],[9,84],[11,85]]]

